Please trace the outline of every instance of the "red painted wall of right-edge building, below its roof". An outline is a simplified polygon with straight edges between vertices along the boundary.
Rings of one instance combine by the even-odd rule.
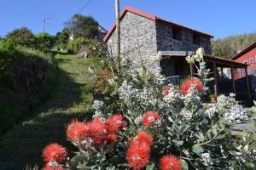
[[[253,59],[252,65],[250,65],[250,59]],[[246,54],[241,55],[238,59],[235,59],[235,60],[241,63],[244,63],[245,61],[247,61],[248,74],[249,75],[253,74],[253,71],[254,71],[254,74],[256,74],[256,48],[253,48],[252,50],[248,51]],[[245,77],[245,71],[242,71],[242,75],[241,75],[241,71],[238,70],[236,71],[234,76],[236,79],[241,78],[241,76]]]

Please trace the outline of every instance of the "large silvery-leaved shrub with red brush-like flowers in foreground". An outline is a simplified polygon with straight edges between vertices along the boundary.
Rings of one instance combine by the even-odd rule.
[[[122,73],[108,80],[111,95],[94,101],[93,120],[68,125],[78,151],[65,169],[254,169],[255,135],[231,135],[234,124],[250,121],[247,113],[233,94],[202,104],[212,80],[203,49],[187,60],[199,62],[198,78],[175,88],[164,85],[156,65],[123,59]]]

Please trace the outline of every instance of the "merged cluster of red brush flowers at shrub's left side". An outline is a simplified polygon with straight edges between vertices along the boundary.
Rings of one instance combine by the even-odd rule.
[[[74,120],[67,126],[67,139],[80,149],[110,144],[116,141],[116,133],[125,126],[124,117],[120,114],[109,117],[105,122],[101,118],[86,123]]]

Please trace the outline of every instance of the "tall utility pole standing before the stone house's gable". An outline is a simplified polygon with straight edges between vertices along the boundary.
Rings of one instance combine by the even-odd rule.
[[[119,0],[115,0],[115,15],[116,15],[116,56],[118,61],[119,71],[121,71],[121,56],[120,56],[120,19],[119,19]]]

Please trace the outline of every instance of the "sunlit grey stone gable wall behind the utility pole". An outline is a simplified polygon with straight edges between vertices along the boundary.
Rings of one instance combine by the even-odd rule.
[[[108,51],[115,55],[115,33],[109,38]],[[131,57],[141,54],[143,59],[156,56],[155,21],[127,12],[120,22],[121,54]]]

